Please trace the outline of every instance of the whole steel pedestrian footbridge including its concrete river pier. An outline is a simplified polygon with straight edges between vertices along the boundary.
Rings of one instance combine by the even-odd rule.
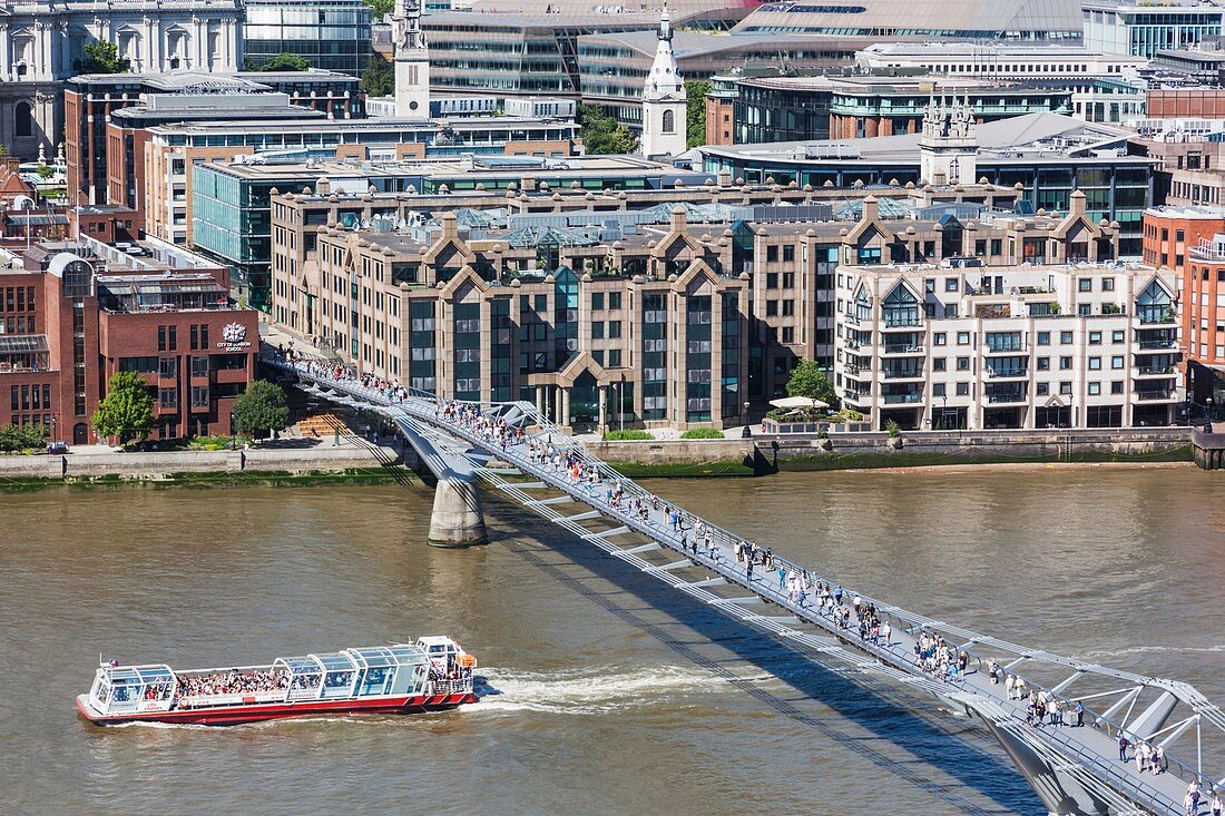
[[[718,608],[780,641],[843,664],[851,675],[862,673],[909,687],[915,707],[937,705],[976,716],[1000,741],[1017,769],[1033,787],[1050,814],[1121,816],[1125,814],[1209,814],[1212,794],[1225,787],[1221,751],[1225,750],[1225,713],[1193,686],[1150,678],[1096,663],[1054,654],[970,631],[953,622],[932,620],[886,600],[858,593],[833,577],[807,570],[828,586],[843,586],[838,614],[822,610],[802,594],[795,597],[778,580],[778,569],[805,570],[775,556],[774,569],[750,571],[739,562],[741,540],[692,513],[712,535],[712,548],[682,546],[680,533],[652,508],[643,517],[630,510],[631,499],[650,507],[652,494],[587,452],[527,402],[477,406],[485,417],[522,429],[522,440],[503,446],[462,421],[453,421],[431,393],[408,390],[394,398],[368,388],[359,380],[337,379],[328,361],[288,361],[272,353],[262,358],[270,369],[294,381],[298,388],[338,404],[386,417],[437,478],[430,539],[443,545],[467,545],[485,538],[478,483],[484,483],[549,522],[568,531],[643,575],[671,586],[696,600]],[[320,363],[322,365],[320,365]],[[599,475],[599,489],[573,480],[568,470],[534,462],[530,440],[546,441],[562,453],[577,453],[588,472]],[[616,506],[606,486],[617,484],[624,500]],[[677,508],[682,510],[682,508]],[[888,621],[888,642],[861,638],[858,608],[872,605]],[[846,608],[843,613],[842,608]],[[840,620],[850,614],[850,625]],[[916,658],[920,637],[942,637],[968,670],[949,678],[933,676]],[[1014,700],[1007,684],[992,682],[989,667],[1005,676],[1024,680],[1031,695],[1041,691],[1084,706],[1083,725],[1035,724],[1029,700]],[[1142,773],[1134,761],[1120,761],[1118,735],[1132,746],[1161,746],[1167,772]],[[1128,752],[1131,756],[1131,752]],[[1187,806],[1189,785],[1202,793],[1198,807]]]

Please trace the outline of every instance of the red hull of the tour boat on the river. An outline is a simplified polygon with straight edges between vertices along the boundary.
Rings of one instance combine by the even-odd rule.
[[[123,723],[240,725],[243,723],[258,723],[266,719],[317,717],[320,714],[420,714],[423,712],[446,711],[477,702],[477,695],[466,692],[415,697],[382,697],[379,700],[310,700],[294,703],[254,703],[250,706],[227,706],[224,708],[187,708],[99,716],[88,707],[82,697],[83,695],[76,698],[77,711],[94,725],[119,725]]]

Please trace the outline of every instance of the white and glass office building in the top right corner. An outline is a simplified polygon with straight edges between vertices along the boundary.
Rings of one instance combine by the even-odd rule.
[[[1084,47],[1090,51],[1153,59],[1158,51],[1194,48],[1220,37],[1225,7],[1194,0],[1085,0],[1082,13]]]

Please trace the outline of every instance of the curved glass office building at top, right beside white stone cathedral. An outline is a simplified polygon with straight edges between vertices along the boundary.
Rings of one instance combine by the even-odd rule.
[[[257,70],[277,54],[360,76],[370,64],[370,6],[364,0],[243,0],[243,50]]]

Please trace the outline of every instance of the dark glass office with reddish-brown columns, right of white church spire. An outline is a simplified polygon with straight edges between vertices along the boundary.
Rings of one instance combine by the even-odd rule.
[[[737,145],[918,132],[932,98],[969,97],[978,123],[1072,113],[1071,91],[932,76],[752,77],[737,82]]]

